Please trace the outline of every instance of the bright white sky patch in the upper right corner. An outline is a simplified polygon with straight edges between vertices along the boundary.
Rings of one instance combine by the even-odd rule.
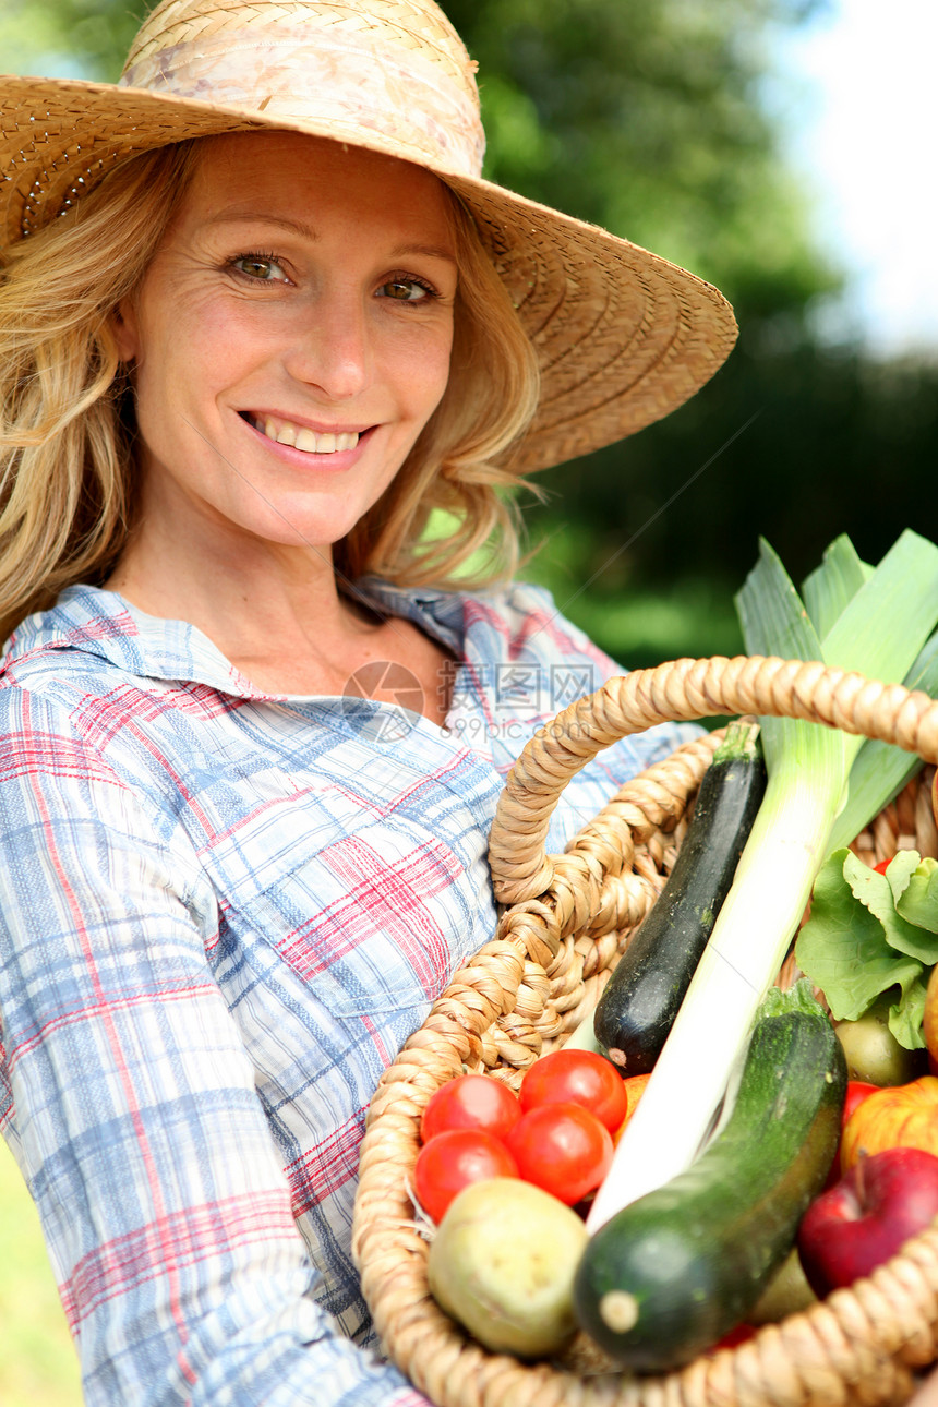
[[[831,0],[779,59],[788,151],[849,273],[823,325],[938,356],[938,0]]]

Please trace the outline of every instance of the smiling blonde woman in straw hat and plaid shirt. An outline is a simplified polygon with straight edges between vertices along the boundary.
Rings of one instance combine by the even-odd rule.
[[[0,1119],[86,1400],[416,1404],[349,1255],[364,1112],[491,936],[505,770],[615,671],[505,585],[496,491],[733,318],[480,179],[432,0],[170,0],[120,87],[0,100]]]

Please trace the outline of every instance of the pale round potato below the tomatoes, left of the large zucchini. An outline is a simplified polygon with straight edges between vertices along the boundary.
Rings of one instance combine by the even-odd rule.
[[[585,1245],[584,1223],[563,1202],[519,1178],[489,1178],[450,1203],[430,1242],[430,1290],[492,1352],[546,1358],[577,1331]]]

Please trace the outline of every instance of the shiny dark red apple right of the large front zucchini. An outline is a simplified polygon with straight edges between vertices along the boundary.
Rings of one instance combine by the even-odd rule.
[[[885,1148],[861,1158],[804,1213],[797,1252],[818,1296],[869,1275],[938,1216],[938,1158]]]

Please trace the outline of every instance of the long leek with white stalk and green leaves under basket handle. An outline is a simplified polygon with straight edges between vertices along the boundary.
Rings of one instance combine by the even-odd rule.
[[[934,651],[923,646],[938,622],[938,547],[915,533],[903,533],[875,571],[838,539],[804,584],[804,597],[807,606],[762,542],[737,597],[750,654],[823,660],[885,681],[901,681],[915,667],[928,673],[934,664]],[[693,1162],[833,848],[840,813],[847,803],[852,839],[897,789],[894,767],[876,785],[882,756],[863,754],[862,737],[796,719],[759,722],[769,772],[765,798],[688,995],[593,1200],[591,1234]],[[855,779],[852,768],[863,757],[863,775]],[[900,757],[901,767],[915,765]],[[868,808],[859,822],[858,796]]]

